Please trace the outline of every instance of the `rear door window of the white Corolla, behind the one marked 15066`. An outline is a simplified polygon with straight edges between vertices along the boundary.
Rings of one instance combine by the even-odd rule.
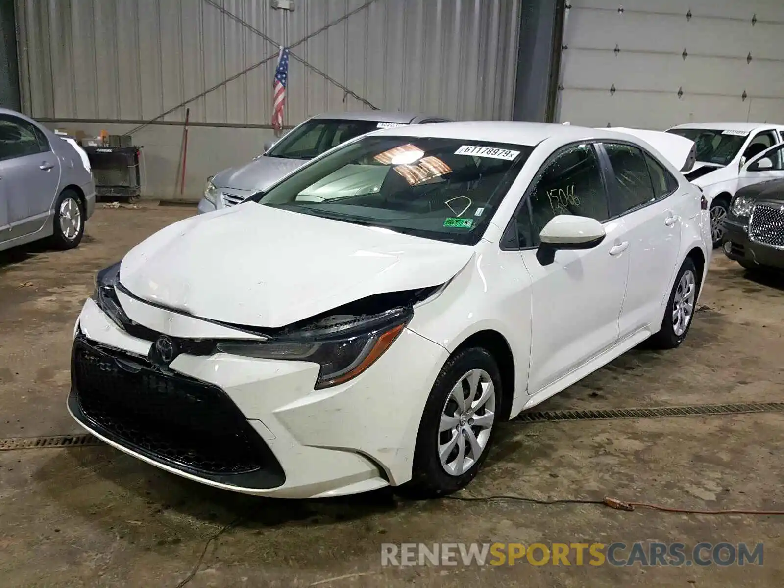
[[[614,215],[623,214],[655,200],[648,163],[641,149],[623,143],[604,143],[616,189],[612,194]]]

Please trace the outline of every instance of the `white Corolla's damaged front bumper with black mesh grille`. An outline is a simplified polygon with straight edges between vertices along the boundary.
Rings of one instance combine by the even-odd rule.
[[[198,318],[124,307],[167,338],[227,336],[224,326]],[[308,361],[183,352],[162,368],[154,337],[125,332],[93,299],[74,335],[68,405],[87,430],[174,474],[285,498],[408,481],[423,406],[448,355],[404,328],[359,376],[317,390],[319,365]]]

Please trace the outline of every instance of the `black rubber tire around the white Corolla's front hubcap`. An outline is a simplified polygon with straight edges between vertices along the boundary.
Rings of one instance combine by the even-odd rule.
[[[492,380],[495,389],[495,419],[479,459],[463,474],[448,474],[438,456],[440,435],[438,428],[441,423],[441,413],[445,410],[452,388],[465,374],[474,369],[484,370]],[[430,390],[430,397],[427,398],[416,437],[412,479],[401,486],[401,494],[411,498],[434,498],[465,488],[477,475],[477,471],[492,448],[499,425],[499,409],[502,406],[503,394],[498,364],[487,350],[481,347],[469,347],[452,355],[441,368],[433,389]],[[459,442],[462,442],[462,439],[463,437],[460,437]]]

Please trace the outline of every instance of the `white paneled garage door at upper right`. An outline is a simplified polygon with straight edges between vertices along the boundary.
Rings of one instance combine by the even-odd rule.
[[[558,117],[784,123],[784,0],[567,0]]]

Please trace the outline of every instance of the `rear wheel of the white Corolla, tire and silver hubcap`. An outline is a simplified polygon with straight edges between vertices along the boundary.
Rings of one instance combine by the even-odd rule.
[[[651,337],[654,347],[674,349],[684,342],[694,318],[698,292],[697,268],[691,258],[687,257],[675,278],[673,291],[670,292],[670,299],[664,311],[662,327]]]

